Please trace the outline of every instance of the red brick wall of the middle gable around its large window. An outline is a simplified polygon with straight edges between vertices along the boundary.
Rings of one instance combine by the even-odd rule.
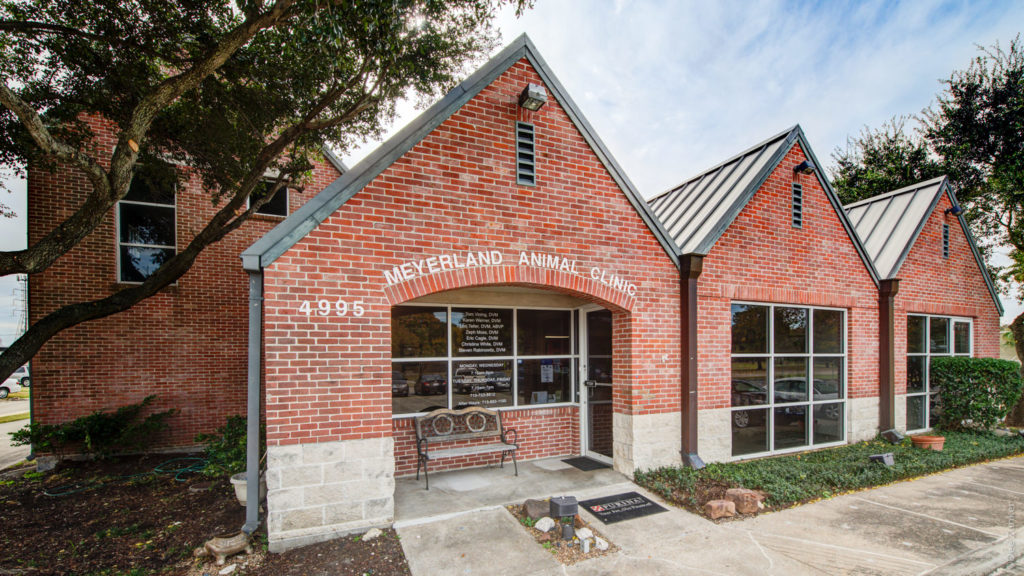
[[[728,408],[733,300],[847,310],[850,398],[879,395],[878,288],[815,175],[794,146],[705,258],[698,293],[698,406]],[[804,189],[792,225],[793,182]]]

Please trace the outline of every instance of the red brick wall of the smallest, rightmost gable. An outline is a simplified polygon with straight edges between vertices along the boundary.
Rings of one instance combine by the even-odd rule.
[[[999,357],[999,312],[985,285],[967,236],[942,195],[900,268],[896,295],[896,394],[906,393],[906,317],[955,316],[974,320],[974,356]],[[942,224],[949,224],[949,257],[942,257]],[[897,410],[903,410],[897,405]]]

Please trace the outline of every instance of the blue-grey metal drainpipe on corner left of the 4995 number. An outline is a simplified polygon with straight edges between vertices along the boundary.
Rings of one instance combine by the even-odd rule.
[[[260,352],[263,346],[263,273],[249,273],[249,394],[246,406],[246,523],[242,531],[259,528],[259,401]]]

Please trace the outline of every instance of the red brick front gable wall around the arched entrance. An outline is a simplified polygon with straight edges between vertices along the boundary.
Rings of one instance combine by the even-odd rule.
[[[537,113],[517,108],[529,82],[542,80],[522,59],[265,271],[268,443],[393,431],[399,474],[415,471],[410,424],[391,420],[390,308],[486,284],[543,287],[612,310],[615,410],[678,411],[677,269],[555,98]],[[516,120],[536,125],[536,187],[515,184]],[[385,282],[402,262],[480,250],[500,251],[503,264]],[[520,251],[568,257],[583,275],[518,265]],[[636,283],[636,297],[591,279],[592,266]],[[321,299],[359,301],[366,314],[299,311]],[[540,435],[524,443],[524,458],[578,447],[574,409],[546,412],[511,416]],[[557,437],[541,435],[549,424]]]

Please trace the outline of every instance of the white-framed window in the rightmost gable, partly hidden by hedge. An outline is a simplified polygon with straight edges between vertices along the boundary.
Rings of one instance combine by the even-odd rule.
[[[933,358],[971,356],[971,321],[937,316],[906,319],[906,429],[939,423],[939,388],[929,372]]]

